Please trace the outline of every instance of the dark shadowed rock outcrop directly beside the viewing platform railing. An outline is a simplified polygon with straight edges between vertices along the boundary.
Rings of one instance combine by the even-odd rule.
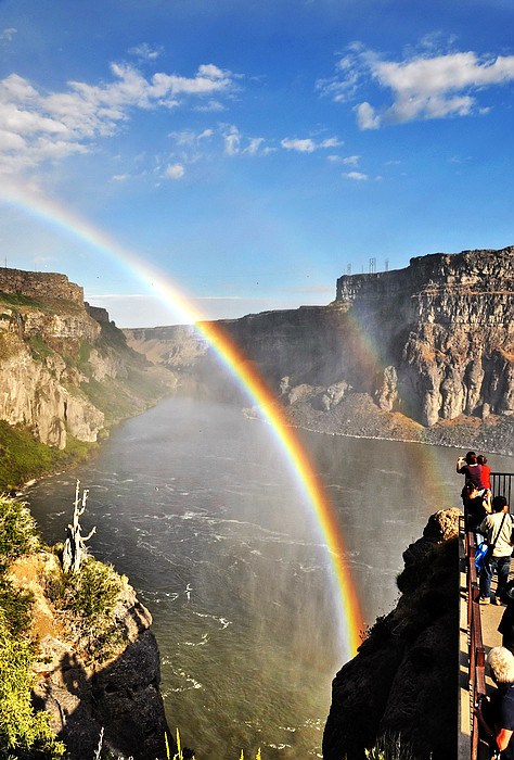
[[[429,518],[403,554],[396,609],[335,676],[324,760],[364,760],[384,736],[399,736],[420,760],[455,757],[460,515]]]

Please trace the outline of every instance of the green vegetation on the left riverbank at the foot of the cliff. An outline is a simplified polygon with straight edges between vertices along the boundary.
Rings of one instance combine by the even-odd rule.
[[[67,435],[66,448],[39,443],[28,430],[0,420],[0,492],[12,491],[33,478],[73,467],[98,448],[95,443]]]

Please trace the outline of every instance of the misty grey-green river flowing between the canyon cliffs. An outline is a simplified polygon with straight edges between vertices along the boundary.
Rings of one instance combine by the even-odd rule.
[[[300,433],[337,514],[365,623],[397,597],[401,554],[427,516],[460,506],[462,451]],[[491,456],[493,470],[513,460]],[[83,532],[149,607],[171,730],[197,760],[321,757],[340,641],[332,563],[269,426],[176,397],[127,420],[101,453],[26,498],[64,540],[75,482]]]

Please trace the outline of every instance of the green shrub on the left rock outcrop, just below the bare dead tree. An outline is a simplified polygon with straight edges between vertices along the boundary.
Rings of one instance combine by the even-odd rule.
[[[77,573],[60,571],[48,579],[47,593],[70,636],[91,660],[101,662],[123,643],[113,609],[123,590],[114,568],[88,557]]]

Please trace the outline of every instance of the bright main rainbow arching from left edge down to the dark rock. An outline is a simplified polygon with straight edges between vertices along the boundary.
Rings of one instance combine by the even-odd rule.
[[[18,207],[25,214],[34,215],[47,224],[64,229],[125,265],[146,286],[150,286],[164,304],[178,314],[183,321],[195,322],[196,329],[208,341],[219,360],[227,367],[246,395],[258,405],[261,416],[270,423],[281,449],[312,506],[317,523],[331,556],[338,592],[337,603],[343,638],[346,642],[349,656],[354,656],[360,644],[362,616],[336,516],[307,451],[294,428],[291,427],[277,396],[268,388],[256,367],[226,330],[219,324],[206,320],[205,316],[193,305],[191,299],[188,299],[164,273],[121,248],[90,223],[57,202],[41,195],[34,195],[20,186],[13,185],[8,190],[0,189],[0,198]]]

